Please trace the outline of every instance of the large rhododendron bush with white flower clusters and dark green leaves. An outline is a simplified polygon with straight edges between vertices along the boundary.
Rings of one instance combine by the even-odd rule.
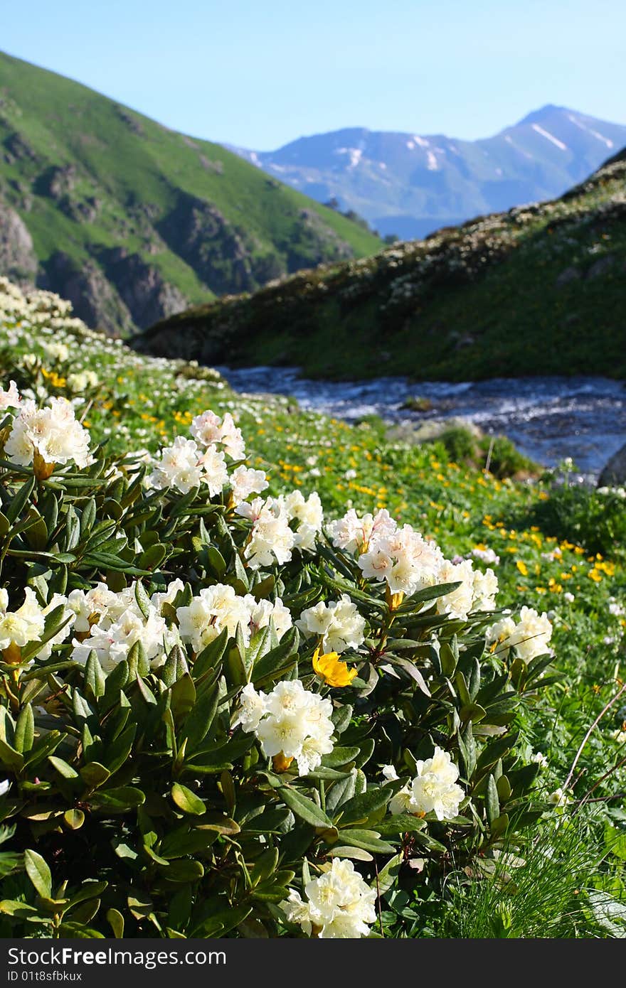
[[[264,496],[228,414],[110,457],[0,406],[5,935],[376,936],[538,818],[551,625],[485,561]]]

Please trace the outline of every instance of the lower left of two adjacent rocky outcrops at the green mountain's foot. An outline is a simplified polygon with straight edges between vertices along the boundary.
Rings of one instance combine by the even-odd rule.
[[[102,329],[109,336],[134,330],[128,306],[94,261],[79,266],[67,254],[56,251],[45,266],[40,285],[67,298],[74,315],[94,329]]]

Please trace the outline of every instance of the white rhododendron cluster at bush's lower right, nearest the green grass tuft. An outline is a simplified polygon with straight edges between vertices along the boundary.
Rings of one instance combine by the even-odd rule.
[[[457,784],[459,770],[447,751],[435,748],[432,758],[415,763],[417,775],[391,800],[392,813],[434,813],[438,820],[458,815],[465,793]]]

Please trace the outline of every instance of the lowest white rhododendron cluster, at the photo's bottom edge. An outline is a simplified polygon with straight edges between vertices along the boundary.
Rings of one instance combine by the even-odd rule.
[[[376,921],[376,891],[363,880],[351,861],[333,858],[305,886],[307,901],[295,889],[280,903],[290,923],[320,940],[367,937]]]

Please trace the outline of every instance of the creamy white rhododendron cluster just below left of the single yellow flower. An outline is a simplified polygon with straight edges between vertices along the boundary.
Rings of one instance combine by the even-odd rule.
[[[300,680],[283,680],[267,696],[248,684],[241,691],[233,726],[253,730],[268,758],[280,757],[288,763],[295,759],[299,775],[306,776],[321,763],[322,755],[332,751],[331,713],[330,700],[305,690]]]

